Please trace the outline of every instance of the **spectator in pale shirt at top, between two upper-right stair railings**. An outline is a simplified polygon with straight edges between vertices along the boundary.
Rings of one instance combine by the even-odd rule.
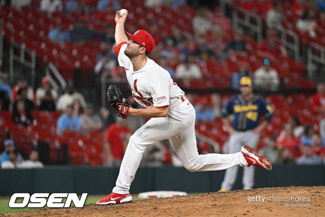
[[[269,10],[265,17],[267,28],[278,29],[284,21],[283,7],[279,1],[273,3],[273,8]]]

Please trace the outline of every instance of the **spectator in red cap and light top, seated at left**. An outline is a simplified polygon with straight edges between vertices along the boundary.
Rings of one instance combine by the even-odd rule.
[[[36,105],[39,106],[39,110],[53,111],[56,100],[57,92],[51,88],[48,78],[43,77],[41,87],[36,90]]]

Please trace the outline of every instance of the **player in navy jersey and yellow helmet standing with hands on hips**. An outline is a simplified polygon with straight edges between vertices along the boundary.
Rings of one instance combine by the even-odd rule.
[[[229,115],[234,119],[230,125]],[[260,123],[261,116],[265,120]],[[249,144],[256,148],[259,135],[273,117],[272,108],[253,94],[253,84],[249,77],[240,79],[240,94],[232,97],[222,108],[222,123],[230,135],[229,154],[240,150],[241,145]],[[237,177],[238,166],[225,171],[220,191],[231,190]],[[244,167],[242,175],[243,189],[254,186],[254,167]]]

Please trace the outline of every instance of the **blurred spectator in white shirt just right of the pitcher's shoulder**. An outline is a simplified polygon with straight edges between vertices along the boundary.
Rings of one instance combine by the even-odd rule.
[[[195,63],[190,63],[185,58],[181,64],[176,67],[175,78],[177,79],[200,79],[202,78],[201,70]]]

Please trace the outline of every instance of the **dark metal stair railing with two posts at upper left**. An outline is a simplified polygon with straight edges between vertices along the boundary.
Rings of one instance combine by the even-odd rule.
[[[14,49],[19,51],[19,56],[14,53]],[[28,60],[26,57],[27,55],[30,56],[30,60]],[[9,48],[9,77],[10,82],[13,83],[13,61],[17,61],[20,64],[30,68],[31,71],[31,86],[35,87],[35,63],[36,63],[36,56],[35,52],[29,50],[25,47],[24,44],[20,45],[13,40],[11,40],[10,48]]]

